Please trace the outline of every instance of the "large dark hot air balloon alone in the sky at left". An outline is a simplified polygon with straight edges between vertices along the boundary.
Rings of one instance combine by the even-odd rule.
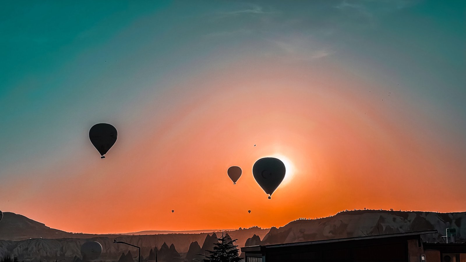
[[[117,129],[106,123],[95,124],[89,130],[89,139],[99,151],[100,158],[105,158],[104,155],[117,141]]]

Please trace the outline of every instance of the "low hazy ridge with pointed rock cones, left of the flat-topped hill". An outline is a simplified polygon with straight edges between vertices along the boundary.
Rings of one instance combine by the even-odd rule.
[[[198,246],[206,244],[205,248],[212,248],[215,241],[215,233],[212,236],[207,233],[198,234],[156,234],[156,235],[93,235],[76,234],[62,230],[49,228],[45,224],[36,222],[23,215],[5,212],[7,219],[0,222],[0,257],[5,255],[18,256],[20,260],[55,261],[56,259],[67,259],[79,262],[81,257],[81,246],[87,241],[97,241],[103,246],[101,258],[103,261],[129,260],[128,251],[133,252],[131,247],[114,244],[113,240],[135,243],[141,247],[141,255],[149,257],[154,251],[161,252],[159,262],[164,259],[168,261],[182,260],[193,242]],[[207,230],[210,231],[210,230]],[[173,231],[171,231],[173,232]],[[176,232],[176,231],[175,231]],[[194,231],[196,232],[196,231]],[[243,245],[249,236],[254,234],[265,235],[268,229],[258,227],[240,228],[228,230],[234,238],[242,240]],[[217,232],[221,234],[221,232]],[[209,244],[205,240],[209,239]],[[170,247],[168,247],[170,246]],[[155,247],[155,248],[154,248]],[[162,249],[168,248],[164,252]],[[158,248],[162,249],[159,250]],[[201,250],[196,250],[201,251]],[[165,253],[165,255],[163,255]],[[124,254],[124,255],[123,255]],[[199,253],[196,253],[199,254]],[[196,255],[194,254],[194,255]]]

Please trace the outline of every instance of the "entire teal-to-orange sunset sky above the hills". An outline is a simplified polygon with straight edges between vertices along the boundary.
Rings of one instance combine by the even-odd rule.
[[[465,3],[6,2],[0,210],[84,233],[465,211]]]

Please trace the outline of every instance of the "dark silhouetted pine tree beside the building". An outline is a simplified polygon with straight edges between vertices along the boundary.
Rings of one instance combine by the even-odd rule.
[[[218,242],[215,243],[213,250],[206,250],[209,255],[203,255],[206,258],[202,260],[195,260],[200,262],[241,262],[238,246],[235,245],[237,240],[232,240],[228,234],[222,233],[222,237],[217,238]]]

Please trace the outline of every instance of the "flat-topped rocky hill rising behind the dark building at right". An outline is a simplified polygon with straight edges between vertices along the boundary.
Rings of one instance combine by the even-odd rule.
[[[457,239],[466,238],[466,212],[434,213],[418,211],[354,210],[340,212],[320,219],[302,219],[281,228],[271,228],[258,242],[248,244],[276,244],[345,238],[364,235],[381,235],[436,229],[439,234],[423,235],[427,242],[443,242],[446,228],[456,228]]]

